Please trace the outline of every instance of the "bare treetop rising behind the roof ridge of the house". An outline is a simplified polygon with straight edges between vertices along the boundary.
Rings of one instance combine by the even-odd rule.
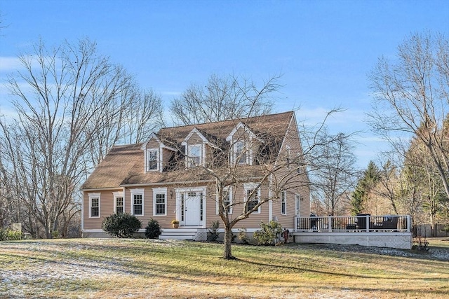
[[[279,78],[272,76],[257,87],[247,78],[211,75],[206,85],[192,84],[180,98],[173,99],[173,122],[192,125],[267,114],[273,108],[273,94],[281,87]]]

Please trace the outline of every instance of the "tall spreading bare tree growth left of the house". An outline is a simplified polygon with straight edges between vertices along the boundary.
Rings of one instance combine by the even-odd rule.
[[[50,50],[40,41],[19,60],[7,83],[17,117],[0,120],[2,180],[19,207],[14,221],[48,238],[79,213],[76,190],[90,169],[116,142],[142,139],[161,102],[142,95],[88,39]],[[134,109],[147,105],[154,109],[137,116]]]

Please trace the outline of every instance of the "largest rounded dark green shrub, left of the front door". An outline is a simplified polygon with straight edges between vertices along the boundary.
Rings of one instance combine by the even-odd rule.
[[[130,214],[112,214],[102,223],[102,228],[109,235],[119,238],[133,237],[134,233],[142,227],[140,220]]]

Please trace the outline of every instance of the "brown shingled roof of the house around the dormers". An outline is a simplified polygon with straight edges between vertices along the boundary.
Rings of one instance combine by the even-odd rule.
[[[293,117],[293,111],[256,116],[236,120],[225,120],[213,123],[185,125],[179,127],[166,127],[157,132],[157,137],[166,145],[180,148],[185,137],[196,128],[208,141],[218,146],[226,144],[226,137],[234,130],[236,125],[243,123],[257,137],[269,142],[272,151],[277,153],[281,142],[286,135],[288,126]],[[120,186],[161,184],[174,181],[186,181],[191,172],[184,169],[169,172],[145,172],[144,153],[142,144],[130,144],[126,146],[113,146],[105,159],[95,168],[88,177],[82,190],[101,188],[119,188]],[[248,172],[256,172],[255,167],[246,167]],[[256,173],[254,173],[256,174]],[[208,177],[196,176],[196,180],[206,180]]]

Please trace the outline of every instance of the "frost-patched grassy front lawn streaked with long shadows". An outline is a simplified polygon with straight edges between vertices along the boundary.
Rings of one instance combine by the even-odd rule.
[[[449,238],[428,252],[148,239],[0,242],[0,298],[447,298]]]

